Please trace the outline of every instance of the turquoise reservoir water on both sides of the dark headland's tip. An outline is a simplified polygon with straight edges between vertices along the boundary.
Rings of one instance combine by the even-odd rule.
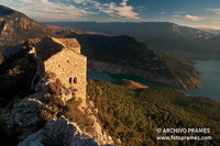
[[[195,67],[200,69],[204,74],[201,76],[201,89],[194,90],[180,90],[190,96],[201,96],[209,97],[212,99],[220,100],[220,60],[198,60],[195,64]],[[94,70],[89,70],[87,74],[88,79],[103,79],[107,81],[116,82],[120,79],[129,79],[142,85],[148,86],[150,88],[154,87],[165,87],[172,88],[167,85],[160,83],[153,80],[147,80],[134,75],[113,75],[107,72],[98,72]]]

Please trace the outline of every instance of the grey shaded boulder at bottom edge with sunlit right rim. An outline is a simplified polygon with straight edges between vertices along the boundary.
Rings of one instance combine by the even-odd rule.
[[[94,138],[85,135],[76,123],[69,122],[65,116],[57,121],[47,121],[38,132],[30,135],[19,146],[98,146]]]

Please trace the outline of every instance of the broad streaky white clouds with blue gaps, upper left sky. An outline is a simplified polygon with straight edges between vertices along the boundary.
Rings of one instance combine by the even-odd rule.
[[[133,11],[133,7],[128,5],[128,1],[122,0],[117,4],[116,2],[100,3],[96,0],[0,0],[0,3],[6,3],[4,5],[21,11],[36,21],[85,21],[87,15],[98,12],[114,19],[140,19],[139,13]]]

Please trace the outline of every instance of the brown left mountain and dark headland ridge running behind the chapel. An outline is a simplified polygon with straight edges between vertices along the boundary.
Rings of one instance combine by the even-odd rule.
[[[6,7],[1,7],[0,23],[0,38],[1,46],[3,46],[1,53],[3,56],[20,50],[22,43],[30,37],[43,38],[46,35],[75,37],[81,45],[81,53],[88,57],[88,68],[112,74],[136,75],[184,89],[200,88],[201,72],[193,65],[172,55],[155,53],[155,50],[150,49],[144,43],[132,36],[78,33],[73,30],[37,23],[26,15]],[[168,27],[169,23],[166,23],[166,25]],[[165,34],[169,33],[170,31],[165,30]],[[183,37],[179,33],[172,34],[176,38]],[[188,37],[196,37],[193,34],[190,33]],[[211,37],[209,33],[200,32],[199,34],[204,37]],[[6,47],[9,44],[10,48]],[[14,48],[11,45],[19,46]]]

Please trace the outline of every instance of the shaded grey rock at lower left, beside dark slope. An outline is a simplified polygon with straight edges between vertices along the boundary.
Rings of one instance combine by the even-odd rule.
[[[34,93],[13,105],[11,110],[12,122],[10,123],[13,123],[13,125],[18,127],[18,131],[22,133],[19,139],[22,141],[37,131],[41,124],[38,114],[42,110],[47,109],[41,101],[44,94],[45,92]]]

